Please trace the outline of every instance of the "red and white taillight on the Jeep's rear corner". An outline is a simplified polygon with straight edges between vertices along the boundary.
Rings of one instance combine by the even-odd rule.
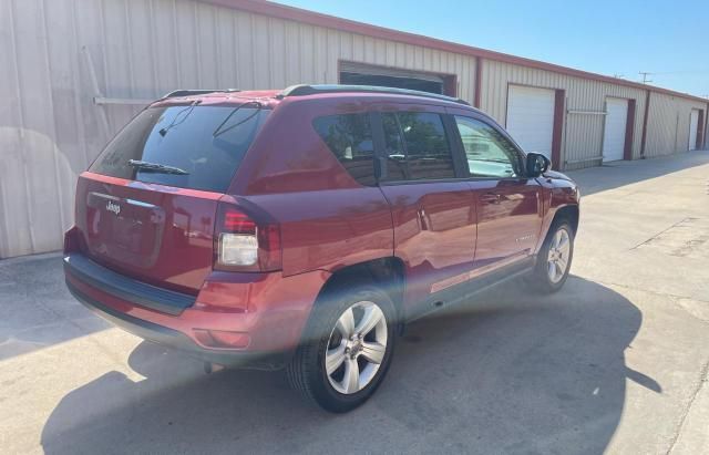
[[[281,268],[280,228],[263,214],[219,203],[215,228],[216,270],[274,271]],[[259,216],[260,215],[260,216]]]

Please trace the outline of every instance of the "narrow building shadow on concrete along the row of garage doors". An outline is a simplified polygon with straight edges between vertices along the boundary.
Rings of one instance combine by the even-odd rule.
[[[569,170],[568,176],[578,184],[583,197],[706,164],[709,164],[709,151],[692,151],[649,159],[612,162],[599,167]]]

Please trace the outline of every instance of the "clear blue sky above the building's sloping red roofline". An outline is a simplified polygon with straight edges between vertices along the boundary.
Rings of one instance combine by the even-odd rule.
[[[709,0],[278,1],[630,81],[648,71],[653,85],[709,95]]]

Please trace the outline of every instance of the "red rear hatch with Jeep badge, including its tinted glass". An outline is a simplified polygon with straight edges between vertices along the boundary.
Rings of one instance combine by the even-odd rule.
[[[196,294],[213,267],[218,200],[268,112],[256,102],[199,101],[141,112],[79,178],[82,252]]]

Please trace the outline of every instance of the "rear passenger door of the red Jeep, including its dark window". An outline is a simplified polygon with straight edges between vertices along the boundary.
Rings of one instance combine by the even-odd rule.
[[[387,104],[374,115],[394,250],[409,266],[408,302],[425,303],[467,280],[474,256],[473,193],[454,158],[454,130],[444,114],[438,106]]]

